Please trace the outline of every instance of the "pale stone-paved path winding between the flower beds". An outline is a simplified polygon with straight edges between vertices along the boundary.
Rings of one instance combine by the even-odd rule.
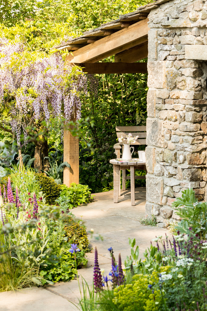
[[[140,219],[145,218],[146,189],[136,188],[135,206],[131,206],[129,190],[123,191],[119,203],[113,203],[113,191],[97,193],[94,202],[72,210],[75,216],[81,218],[87,230],[94,230],[91,238],[93,249],[97,247],[100,268],[105,275],[111,269],[109,247],[114,250],[118,260],[121,253],[122,261],[130,255],[128,238],[136,239],[140,247],[140,256],[150,246],[150,241],[156,235],[164,236],[166,229],[152,226],[143,226]],[[101,235],[103,240],[97,240]],[[89,285],[93,281],[93,253],[88,254],[87,268],[78,270],[79,283],[82,287],[81,276]],[[80,292],[77,279],[70,282],[60,282],[44,288],[32,287],[18,292],[0,293],[0,311],[73,311],[78,308]]]

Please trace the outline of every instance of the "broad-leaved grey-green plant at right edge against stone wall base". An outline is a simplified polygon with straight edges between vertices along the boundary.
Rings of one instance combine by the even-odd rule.
[[[198,202],[191,188],[182,191],[182,198],[177,198],[172,206],[177,207],[176,214],[182,218],[175,228],[181,233],[199,234],[200,239],[205,240],[207,237],[207,203]]]

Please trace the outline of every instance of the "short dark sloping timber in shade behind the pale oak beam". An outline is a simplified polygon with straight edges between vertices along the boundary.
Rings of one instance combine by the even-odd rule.
[[[118,53],[114,56],[115,63],[134,63],[148,56],[148,42],[132,47],[129,50]]]

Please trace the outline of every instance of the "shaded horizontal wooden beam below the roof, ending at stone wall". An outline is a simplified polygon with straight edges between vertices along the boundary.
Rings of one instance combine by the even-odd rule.
[[[81,67],[88,74],[147,73],[147,63],[84,63]]]

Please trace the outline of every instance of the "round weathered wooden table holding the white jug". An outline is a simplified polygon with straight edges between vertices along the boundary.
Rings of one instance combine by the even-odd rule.
[[[131,205],[135,205],[135,169],[144,169],[146,170],[145,162],[142,161],[133,161],[127,162],[127,160],[122,160],[124,162],[119,162],[117,159],[110,160],[110,163],[113,164],[114,168],[114,203],[118,203],[119,196],[121,195],[121,186],[120,186],[120,171],[130,170],[129,179],[131,180]],[[133,158],[132,158],[133,160]],[[145,178],[145,176],[140,176]]]

